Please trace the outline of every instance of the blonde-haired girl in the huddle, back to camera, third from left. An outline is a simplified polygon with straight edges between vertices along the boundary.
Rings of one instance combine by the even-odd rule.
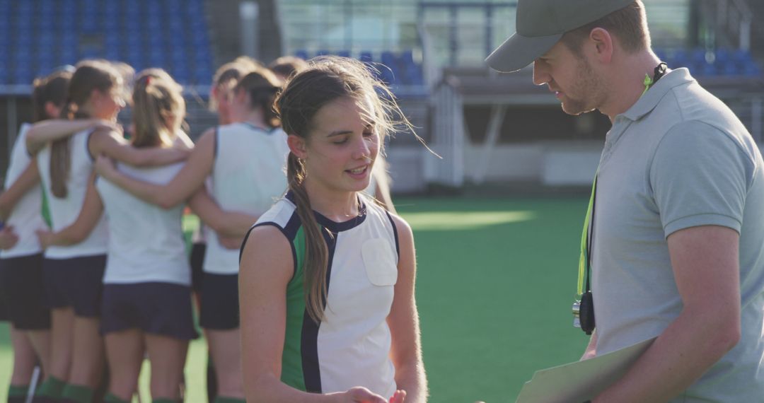
[[[131,145],[135,148],[192,147],[180,131],[186,110],[180,85],[163,73],[141,73],[134,84]],[[163,183],[182,166],[134,168],[120,164],[119,169]],[[105,180],[97,181],[96,189],[109,223],[101,311],[111,374],[105,401],[131,401],[144,351],[151,361],[152,401],[177,401],[188,342],[196,337],[191,272],[181,227],[183,206],[159,208]]]

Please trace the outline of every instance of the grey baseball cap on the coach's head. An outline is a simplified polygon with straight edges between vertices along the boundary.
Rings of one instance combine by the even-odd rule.
[[[620,10],[634,0],[518,0],[517,32],[485,60],[492,69],[513,72],[533,63],[565,32]]]

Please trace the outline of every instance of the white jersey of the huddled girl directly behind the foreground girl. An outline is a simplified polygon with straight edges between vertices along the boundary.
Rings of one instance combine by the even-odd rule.
[[[220,126],[215,131],[215,163],[211,194],[220,208],[263,214],[286,190],[286,134],[248,123]],[[254,224],[254,223],[252,223]],[[238,273],[238,250],[220,245],[215,231],[207,231],[205,272]]]

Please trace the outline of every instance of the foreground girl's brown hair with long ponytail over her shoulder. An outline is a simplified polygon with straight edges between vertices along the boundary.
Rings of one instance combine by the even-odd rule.
[[[365,118],[374,122],[380,140],[396,131],[411,131],[413,127],[394,101],[387,86],[375,79],[371,67],[345,57],[322,56],[309,62],[276,99],[275,108],[286,134],[309,140],[312,118],[324,105],[339,98],[350,98],[364,111]],[[416,136],[416,134],[415,134]],[[418,138],[418,137],[417,137]],[[322,227],[316,221],[305,189],[305,164],[293,153],[286,163],[286,180],[305,234],[306,310],[313,321],[324,318],[327,286],[326,272],[329,249]]]

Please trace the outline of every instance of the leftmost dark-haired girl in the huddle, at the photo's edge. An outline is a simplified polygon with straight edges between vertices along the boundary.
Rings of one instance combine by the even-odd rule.
[[[34,80],[34,121],[60,114],[71,76],[70,72],[62,71]],[[8,304],[14,350],[9,402],[26,400],[37,363],[42,372],[50,372],[50,308],[46,305],[43,289],[42,249],[34,235],[34,231],[44,228],[45,223],[41,214],[42,192],[37,163],[31,159],[25,145],[30,126],[21,126],[11,151],[5,192],[0,195],[0,199],[13,197],[14,193],[18,195],[12,203],[0,203],[0,216],[5,221],[0,245],[0,285]]]

